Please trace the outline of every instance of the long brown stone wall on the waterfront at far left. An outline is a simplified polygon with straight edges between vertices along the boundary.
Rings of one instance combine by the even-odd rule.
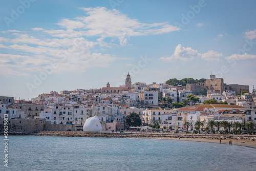
[[[44,130],[45,119],[9,119],[8,133],[31,134]],[[4,119],[0,119],[0,133],[4,132]]]

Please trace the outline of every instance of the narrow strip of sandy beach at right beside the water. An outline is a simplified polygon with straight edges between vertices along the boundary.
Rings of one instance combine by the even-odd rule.
[[[168,138],[168,137],[146,137],[147,139],[165,139],[165,140],[177,140],[177,141],[198,141],[198,142],[211,142],[211,143],[220,143],[219,139],[208,139],[208,138]],[[229,144],[230,139],[222,139],[222,144]],[[241,145],[251,148],[256,148],[256,141],[252,140],[236,140],[231,139],[232,145]]]

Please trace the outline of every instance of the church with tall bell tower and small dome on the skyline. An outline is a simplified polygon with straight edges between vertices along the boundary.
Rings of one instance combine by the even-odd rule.
[[[108,82],[106,84],[106,87],[103,87],[101,89],[101,93],[114,94],[114,93],[121,93],[122,91],[129,91],[131,89],[132,89],[132,80],[131,80],[131,75],[128,73],[125,79],[125,86],[110,87],[110,83]]]

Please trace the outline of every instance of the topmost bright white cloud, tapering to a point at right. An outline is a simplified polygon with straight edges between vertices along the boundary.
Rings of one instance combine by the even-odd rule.
[[[88,16],[61,19],[57,25],[67,30],[46,30],[45,32],[61,38],[77,36],[115,37],[119,39],[120,45],[124,46],[131,36],[163,34],[180,30],[167,23],[141,23],[115,9],[108,10],[104,7],[79,9],[86,11]]]

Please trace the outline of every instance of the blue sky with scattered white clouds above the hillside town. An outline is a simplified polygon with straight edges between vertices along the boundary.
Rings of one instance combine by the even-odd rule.
[[[169,78],[256,86],[255,1],[1,1],[0,96]]]

